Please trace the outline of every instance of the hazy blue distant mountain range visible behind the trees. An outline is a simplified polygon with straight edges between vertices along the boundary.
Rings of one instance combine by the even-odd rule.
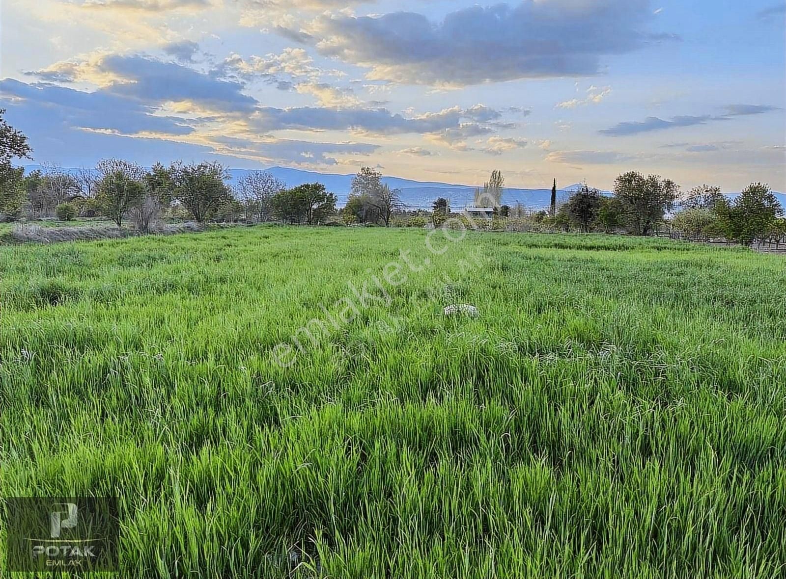
[[[43,169],[39,165],[28,165],[26,168],[28,171]],[[78,169],[63,170],[73,173]],[[343,206],[347,202],[352,187],[352,178],[354,177],[354,174],[316,173],[314,171],[304,171],[303,169],[289,169],[288,167],[271,167],[265,170],[272,173],[277,179],[284,181],[288,187],[297,187],[298,185],[318,181],[324,184],[328,191],[336,194],[339,198],[339,206]],[[237,183],[237,180],[243,177],[244,174],[251,173],[251,171],[252,169],[229,169],[230,184]],[[402,202],[410,209],[431,209],[432,202],[439,197],[448,199],[450,207],[454,210],[464,209],[465,206],[471,205],[475,200],[476,188],[469,185],[416,181],[403,179],[402,177],[383,177],[383,181],[391,188],[401,191]],[[560,201],[564,201],[578,186],[579,184],[577,183],[557,190],[557,198]],[[601,193],[612,195],[610,191],[601,191]],[[727,195],[730,198],[734,198],[740,194],[729,193]],[[776,193],[775,196],[780,201],[780,205],[786,208],[786,195]],[[551,189],[505,188],[502,202],[509,206],[516,206],[517,203],[520,203],[531,209],[542,209],[543,207],[548,207],[551,203]]]

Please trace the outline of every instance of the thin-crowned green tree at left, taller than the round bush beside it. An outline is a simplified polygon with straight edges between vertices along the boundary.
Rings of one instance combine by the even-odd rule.
[[[120,227],[123,217],[145,197],[145,170],[136,163],[110,158],[98,162],[96,201],[101,213]]]

